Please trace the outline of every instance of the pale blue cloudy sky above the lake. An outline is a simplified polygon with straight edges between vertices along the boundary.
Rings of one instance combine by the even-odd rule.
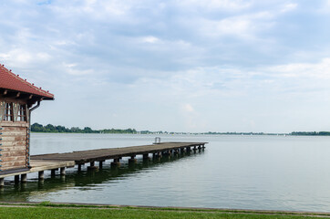
[[[92,129],[330,130],[330,1],[0,0],[0,63]]]

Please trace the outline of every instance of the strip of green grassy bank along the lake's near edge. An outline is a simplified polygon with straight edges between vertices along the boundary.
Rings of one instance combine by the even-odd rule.
[[[328,218],[330,214],[57,203],[0,203],[0,218]]]

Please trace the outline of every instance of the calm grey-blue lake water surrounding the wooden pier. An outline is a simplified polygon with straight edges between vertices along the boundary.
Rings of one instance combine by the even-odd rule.
[[[155,135],[32,134],[32,154],[150,144]],[[330,211],[330,137],[160,135],[208,141],[205,151],[99,172],[67,169],[26,187],[6,178],[0,201]]]

